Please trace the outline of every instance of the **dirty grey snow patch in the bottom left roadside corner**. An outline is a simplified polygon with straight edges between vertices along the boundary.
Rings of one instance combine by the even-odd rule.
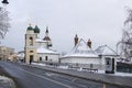
[[[15,85],[12,79],[0,76],[0,88],[15,88]]]

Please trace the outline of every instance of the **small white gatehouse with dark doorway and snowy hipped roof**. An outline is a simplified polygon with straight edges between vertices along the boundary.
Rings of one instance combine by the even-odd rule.
[[[101,64],[103,65],[103,69],[112,70],[110,73],[114,73],[117,70],[117,58],[119,55],[112,48],[110,48],[108,45],[102,45],[99,46],[95,52],[102,59]]]

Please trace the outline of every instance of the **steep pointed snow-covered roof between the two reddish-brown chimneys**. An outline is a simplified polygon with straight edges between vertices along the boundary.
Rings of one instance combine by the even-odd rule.
[[[72,50],[69,54],[63,57],[98,57],[98,55],[88,47],[87,43],[80,38],[78,44]]]

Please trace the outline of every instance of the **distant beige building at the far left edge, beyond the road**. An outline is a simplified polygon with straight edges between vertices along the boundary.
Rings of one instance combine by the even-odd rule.
[[[0,59],[8,61],[14,54],[14,48],[8,46],[0,46]]]

